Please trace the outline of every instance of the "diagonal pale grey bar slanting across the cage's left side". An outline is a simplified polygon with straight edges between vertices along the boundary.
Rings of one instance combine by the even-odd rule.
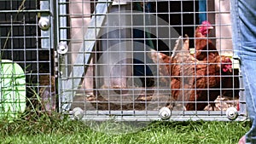
[[[85,61],[85,64],[90,63],[91,55],[88,52],[91,52],[96,41],[87,41],[91,37],[98,37],[98,34],[101,30],[101,26],[103,25],[103,21],[105,20],[105,14],[108,12],[108,7],[111,5],[110,0],[100,0],[96,5],[96,10],[94,16],[90,20],[90,24],[88,27],[87,32],[84,35],[84,44],[79,49],[80,52],[86,51],[86,54],[78,54],[77,59],[75,60],[73,65],[79,65],[81,62]],[[84,48],[85,47],[85,48]],[[85,58],[85,60],[84,60]],[[84,64],[84,63],[83,63]],[[70,78],[68,79],[67,83],[63,82],[64,89],[78,89],[79,83],[81,81],[81,77],[86,72],[88,66],[73,66],[73,72],[70,73]],[[84,70],[85,69],[85,70]],[[80,78],[73,78],[73,77],[80,77]],[[61,106],[62,111],[68,111],[71,107],[71,102],[73,101],[74,92],[66,92],[62,95],[62,102],[70,102],[67,104],[63,104]]]

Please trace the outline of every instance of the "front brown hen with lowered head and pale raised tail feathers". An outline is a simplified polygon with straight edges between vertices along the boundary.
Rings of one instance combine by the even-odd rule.
[[[170,101],[182,102],[187,111],[203,110],[220,94],[221,82],[232,71],[232,61],[227,56],[216,55],[210,60],[197,60],[189,52],[189,37],[177,40],[172,56],[154,52],[154,62],[160,64],[161,75],[171,76]],[[166,70],[166,71],[165,71]],[[162,78],[162,81],[165,81]],[[167,104],[172,108],[173,103]]]

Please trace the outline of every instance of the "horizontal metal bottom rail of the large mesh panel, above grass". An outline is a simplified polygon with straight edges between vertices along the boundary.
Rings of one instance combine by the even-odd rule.
[[[70,112],[70,117],[73,115]],[[196,114],[195,114],[196,113]],[[85,114],[85,113],[84,113]],[[114,119],[115,121],[154,121],[161,120],[158,111],[86,111],[82,120],[105,121]],[[167,121],[186,121],[186,120],[205,120],[205,121],[231,121],[224,112],[172,112],[171,118]],[[247,117],[242,113],[235,121],[244,121]]]

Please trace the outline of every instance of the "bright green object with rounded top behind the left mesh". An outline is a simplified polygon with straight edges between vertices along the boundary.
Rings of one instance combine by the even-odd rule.
[[[26,77],[12,60],[0,60],[0,118],[16,118],[26,108]]]

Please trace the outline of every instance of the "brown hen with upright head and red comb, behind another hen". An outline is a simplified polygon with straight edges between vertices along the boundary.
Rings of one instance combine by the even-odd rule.
[[[195,29],[195,58],[197,60],[211,60],[218,56],[216,47],[207,37],[212,29],[211,23],[207,20]]]

